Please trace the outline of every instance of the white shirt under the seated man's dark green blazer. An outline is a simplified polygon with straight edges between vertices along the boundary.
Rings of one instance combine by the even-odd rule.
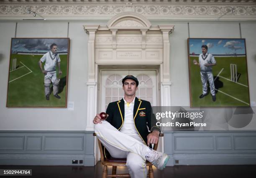
[[[123,97],[123,101],[125,105],[124,106],[125,116],[124,116],[123,126],[121,127],[120,132],[125,133],[143,143],[143,140],[141,139],[140,135],[138,135],[138,132],[135,128],[135,124],[133,120],[133,109],[134,109],[135,97],[131,103],[126,102],[124,97]]]

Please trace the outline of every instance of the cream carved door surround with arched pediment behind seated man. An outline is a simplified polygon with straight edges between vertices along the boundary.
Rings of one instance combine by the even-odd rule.
[[[174,25],[151,25],[144,16],[126,12],[114,16],[105,26],[84,25],[84,30],[89,34],[86,130],[93,130],[98,68],[102,65],[157,66],[161,106],[171,104],[169,33]]]

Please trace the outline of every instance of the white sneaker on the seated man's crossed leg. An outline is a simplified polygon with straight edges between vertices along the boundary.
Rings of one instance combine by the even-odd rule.
[[[165,153],[161,153],[150,148],[146,153],[145,158],[156,166],[156,168],[163,170],[170,157]]]

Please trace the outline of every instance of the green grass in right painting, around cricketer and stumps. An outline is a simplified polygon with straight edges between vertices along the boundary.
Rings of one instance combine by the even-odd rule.
[[[248,78],[245,56],[230,56],[230,57],[215,57],[217,62],[216,66],[212,67],[213,76],[220,76],[215,80],[215,88],[219,91],[216,92],[217,100],[212,102],[210,93],[200,99],[202,94],[202,82],[200,77],[200,67],[193,64],[193,60],[198,61],[198,57],[190,56],[190,82],[191,82],[191,106],[192,107],[224,107],[224,106],[248,106],[249,104],[249,91],[248,91]],[[230,64],[237,65],[237,73],[240,73],[237,84],[230,79]],[[224,77],[224,78],[223,78]],[[210,92],[210,88],[208,89]],[[224,94],[224,93],[225,94]]]

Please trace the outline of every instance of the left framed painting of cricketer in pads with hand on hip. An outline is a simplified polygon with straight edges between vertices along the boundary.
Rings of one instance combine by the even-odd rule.
[[[12,38],[6,107],[67,107],[69,38]]]

